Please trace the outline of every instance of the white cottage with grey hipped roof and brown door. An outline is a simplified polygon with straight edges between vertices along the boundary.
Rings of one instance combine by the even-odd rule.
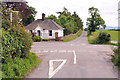
[[[51,19],[45,19],[45,14],[42,14],[42,19],[38,19],[26,28],[35,36],[41,36],[42,39],[61,39],[63,30],[60,25]]]

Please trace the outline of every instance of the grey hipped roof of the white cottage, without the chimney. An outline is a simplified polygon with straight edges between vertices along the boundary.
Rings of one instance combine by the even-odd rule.
[[[63,30],[64,29],[51,19],[45,19],[44,21],[42,19],[38,19],[32,22],[31,24],[27,25],[26,28],[28,30],[34,30],[38,25],[45,30]]]

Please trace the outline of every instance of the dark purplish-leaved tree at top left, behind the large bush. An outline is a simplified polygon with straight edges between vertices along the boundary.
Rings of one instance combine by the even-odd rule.
[[[11,9],[13,11],[19,11],[21,24],[25,26],[30,24],[35,20],[35,15],[37,11],[35,8],[27,5],[26,1],[22,2],[4,2],[2,7],[6,7],[6,9]]]

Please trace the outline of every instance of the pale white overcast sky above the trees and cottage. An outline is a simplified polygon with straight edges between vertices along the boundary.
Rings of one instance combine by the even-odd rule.
[[[88,8],[96,7],[107,26],[118,26],[118,2],[120,0],[26,0],[28,5],[36,8],[36,19],[41,19],[42,13],[48,15],[63,11],[66,7],[71,13],[77,12],[86,27],[86,19],[89,17]]]

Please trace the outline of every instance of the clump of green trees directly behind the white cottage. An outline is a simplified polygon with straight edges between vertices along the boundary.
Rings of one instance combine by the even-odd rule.
[[[74,34],[80,29],[83,29],[82,19],[77,15],[76,12],[71,14],[67,8],[64,8],[62,12],[57,12],[58,17],[50,15],[47,19],[52,19],[60,26],[64,28],[64,35]]]

